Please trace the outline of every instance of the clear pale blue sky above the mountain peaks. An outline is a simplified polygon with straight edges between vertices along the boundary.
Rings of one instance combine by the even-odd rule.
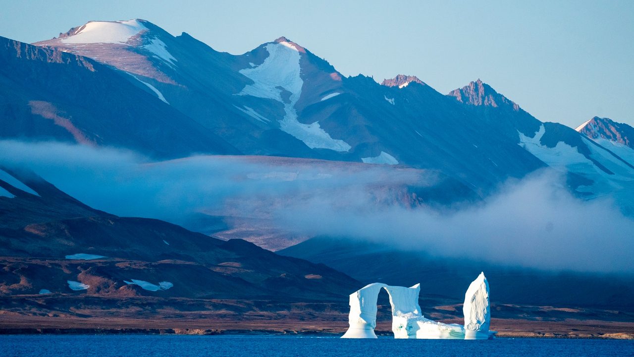
[[[243,53],[286,36],[344,75],[411,74],[442,93],[481,78],[541,121],[634,126],[634,0],[0,0],[0,36],[32,43],[143,18]]]

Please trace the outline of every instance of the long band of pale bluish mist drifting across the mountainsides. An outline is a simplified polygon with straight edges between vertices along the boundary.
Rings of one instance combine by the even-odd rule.
[[[266,217],[306,236],[367,239],[445,257],[634,273],[634,220],[609,198],[575,198],[552,170],[506,182],[482,202],[439,212],[402,205],[382,189],[436,184],[437,175],[424,170],[239,156],[152,162],[119,149],[15,140],[0,140],[0,152],[0,165],[33,170],[87,205],[120,216],[178,223],[193,213],[230,212]]]

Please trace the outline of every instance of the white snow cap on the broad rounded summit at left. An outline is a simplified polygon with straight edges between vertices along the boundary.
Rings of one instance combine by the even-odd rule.
[[[75,34],[60,39],[62,43],[126,43],[130,37],[147,30],[138,20],[91,21]]]

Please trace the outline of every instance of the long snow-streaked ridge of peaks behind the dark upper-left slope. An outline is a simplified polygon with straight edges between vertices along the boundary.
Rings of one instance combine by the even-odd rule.
[[[117,30],[103,37],[101,27]],[[448,95],[415,76],[381,85],[365,76],[342,76],[286,37],[230,55],[145,20],[89,22],[36,44],[132,74],[129,81],[243,154],[441,170],[485,194],[510,177],[554,165],[549,156],[526,149],[524,138],[534,137],[542,123],[480,79]],[[574,130],[556,123],[544,128],[541,151],[564,142],[598,170],[609,166],[590,154]],[[571,175],[597,179],[586,172]],[[573,179],[573,189],[583,182]]]

